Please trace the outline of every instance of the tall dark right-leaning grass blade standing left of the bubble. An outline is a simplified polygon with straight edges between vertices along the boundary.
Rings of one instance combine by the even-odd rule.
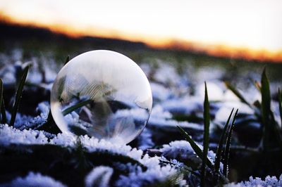
[[[15,123],[15,120],[16,120],[16,115],[17,115],[17,112],[18,112],[20,99],[21,99],[22,93],[23,93],[23,86],[25,86],[25,80],[27,78],[27,72],[28,72],[29,67],[30,66],[27,65],[27,67],[25,67],[25,69],[23,70],[23,76],[20,79],[20,82],[18,84],[18,89],[17,89],[17,92],[16,92],[16,100],[15,100],[15,103],[13,105],[13,110],[11,112],[10,126],[13,126],[13,124]]]

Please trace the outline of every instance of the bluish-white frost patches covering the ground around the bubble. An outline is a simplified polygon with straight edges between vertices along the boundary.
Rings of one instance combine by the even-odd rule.
[[[52,59],[48,61],[49,63],[40,63],[40,65],[38,58],[23,62],[21,56],[19,49],[13,51],[11,56],[4,53],[0,54],[0,77],[3,79],[4,88],[11,88],[16,84],[17,72],[25,63],[30,63],[32,67],[27,77],[27,83],[31,86],[27,86],[25,89],[27,93],[29,93],[29,90],[44,89],[46,96],[42,96],[42,98],[45,98],[44,101],[38,103],[37,108],[34,109],[37,115],[18,113],[14,127],[9,127],[8,124],[0,124],[1,149],[4,150],[13,145],[56,145],[72,150],[77,147],[78,143],[81,143],[87,153],[106,152],[112,155],[123,155],[147,168],[144,170],[142,167],[131,163],[128,163],[128,165],[117,163],[116,167],[95,165],[85,175],[85,186],[109,186],[109,183],[114,186],[147,186],[168,179],[178,186],[191,185],[193,176],[183,174],[178,166],[187,161],[200,165],[201,160],[195,155],[190,144],[183,141],[183,137],[176,129],[176,126],[183,127],[188,131],[202,148],[204,81],[207,81],[209,101],[211,102],[211,144],[218,141],[219,131],[223,128],[223,124],[226,122],[232,108],[239,108],[239,115],[243,117],[250,118],[250,116],[254,115],[252,108],[245,103],[241,103],[233,92],[226,89],[226,86],[221,81],[222,77],[224,77],[223,71],[209,67],[188,70],[188,74],[193,74],[188,76],[185,73],[180,74],[176,67],[170,63],[156,60],[157,65],[154,66],[148,63],[140,64],[142,70],[149,77],[154,103],[147,127],[130,146],[114,144],[104,140],[99,141],[88,136],[76,137],[70,134],[50,134],[36,129],[47,120],[49,112],[48,94],[60,65],[56,65]],[[44,70],[44,73],[42,73],[42,70]],[[191,79],[191,77],[193,78]],[[261,99],[254,86],[250,86],[249,89],[242,91],[242,93],[246,98],[250,99],[250,102]],[[25,97],[28,96],[25,95]],[[10,96],[10,98],[12,97]],[[27,98],[23,98],[23,100],[25,99]],[[274,111],[278,111],[278,105],[274,104],[273,106]],[[8,119],[11,116],[8,111],[6,111],[6,115]],[[142,114],[138,113],[137,110],[123,111],[119,115],[133,115],[135,119],[142,117]],[[279,119],[278,112],[275,112],[275,115]],[[280,120],[277,121],[280,122]],[[253,120],[251,127],[259,130],[260,124]],[[240,138],[235,141],[240,142]],[[147,149],[154,149],[159,155],[148,155]],[[211,162],[214,162],[215,154],[212,150],[209,150],[208,157]],[[163,158],[171,162],[171,164],[162,164],[161,160]],[[114,175],[115,169],[118,167],[126,167],[129,173],[119,174],[118,178],[115,179],[116,181],[113,182],[111,176]],[[265,181],[250,178],[250,181],[238,184],[230,183],[226,186],[259,185],[282,186],[282,175],[280,179],[269,176],[266,177]],[[0,183],[0,186],[66,186],[66,184],[59,179],[30,170],[25,176],[15,176],[15,179]]]

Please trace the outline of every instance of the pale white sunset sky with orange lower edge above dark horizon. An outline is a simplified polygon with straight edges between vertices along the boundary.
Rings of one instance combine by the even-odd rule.
[[[73,36],[282,53],[282,1],[1,0],[1,15]]]

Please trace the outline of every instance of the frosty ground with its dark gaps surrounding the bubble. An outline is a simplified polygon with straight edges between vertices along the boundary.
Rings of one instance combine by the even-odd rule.
[[[235,82],[237,85],[228,78],[231,83],[224,83],[224,77],[230,76],[228,71],[213,67],[197,69],[189,63],[179,70],[169,60],[155,58],[140,60],[152,86],[151,117],[142,134],[125,146],[46,128],[56,128],[48,120],[49,91],[61,65],[53,58],[45,59],[48,63],[43,65],[36,56],[25,60],[20,50],[11,55],[1,53],[0,77],[4,82],[7,122],[0,124],[0,186],[199,186],[202,159],[176,126],[187,131],[200,150],[204,150],[204,80],[211,120],[207,159],[212,165],[228,115],[232,108],[239,108],[226,171],[229,182],[237,184],[226,186],[281,186],[279,98],[281,103],[282,97],[277,84],[270,84],[268,90],[263,77],[262,83],[256,84],[259,90],[243,86],[242,91],[238,89],[242,84],[240,78]],[[31,66],[23,96],[15,122],[8,125],[25,63]],[[259,80],[256,73],[250,72],[250,77]],[[117,115],[131,115],[136,120],[143,117],[139,110],[121,110]],[[219,172],[223,172],[225,162],[222,159],[219,163]],[[253,178],[249,179],[250,175]],[[214,176],[213,169],[207,168],[207,185],[214,182],[209,181]]]

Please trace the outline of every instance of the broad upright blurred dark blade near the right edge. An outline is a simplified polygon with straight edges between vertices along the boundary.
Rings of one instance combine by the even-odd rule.
[[[269,133],[270,133],[270,115],[271,115],[271,95],[269,89],[269,79],[266,76],[266,68],[262,72],[262,124],[264,127],[264,134],[262,138],[262,145],[264,149],[267,149],[269,146]]]

